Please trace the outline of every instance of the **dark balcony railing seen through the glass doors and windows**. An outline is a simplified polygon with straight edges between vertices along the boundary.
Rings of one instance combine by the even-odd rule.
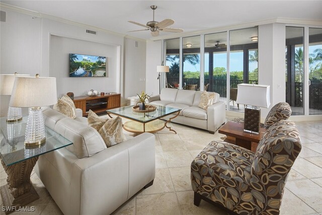
[[[171,85],[174,85],[174,83],[179,83],[179,78],[169,78],[168,83]],[[199,89],[200,87],[199,79],[183,79],[183,83],[186,83],[186,85],[198,85],[197,89]],[[212,81],[212,86],[208,87],[208,91],[216,92],[219,93],[221,97],[226,97],[226,83],[226,79],[215,79]],[[243,80],[230,80],[230,88],[237,88],[237,85],[242,83]],[[204,84],[209,84],[209,79],[205,79]],[[249,84],[258,84],[258,81],[249,81]],[[303,83],[295,82],[294,87],[294,106],[303,107]],[[290,101],[287,102],[290,103]],[[309,108],[322,110],[322,83],[311,83],[311,85],[309,86]]]

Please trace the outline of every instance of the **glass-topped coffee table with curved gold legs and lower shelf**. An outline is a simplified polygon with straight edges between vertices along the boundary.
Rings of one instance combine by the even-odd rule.
[[[133,133],[143,133],[150,132],[155,133],[163,128],[167,127],[169,130],[177,133],[174,129],[171,129],[167,125],[168,122],[171,122],[171,119],[176,118],[181,109],[166,107],[161,105],[153,105],[156,107],[155,111],[139,113],[132,109],[132,106],[120,107],[115,109],[107,110],[107,114],[113,118],[110,114],[115,114],[117,116],[130,119],[123,124],[124,130]],[[160,120],[160,118],[174,114],[173,117],[170,117],[169,120]]]

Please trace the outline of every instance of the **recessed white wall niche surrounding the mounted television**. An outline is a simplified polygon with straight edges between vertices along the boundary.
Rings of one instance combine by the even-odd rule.
[[[117,89],[117,52],[115,45],[96,43],[51,35],[49,55],[49,76],[56,77],[57,95],[67,92],[74,96],[84,96],[91,89],[99,92],[119,92]],[[69,53],[105,56],[107,58],[107,77],[69,77]]]

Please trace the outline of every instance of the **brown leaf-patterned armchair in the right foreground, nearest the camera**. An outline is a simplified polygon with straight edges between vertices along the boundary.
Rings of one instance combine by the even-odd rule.
[[[212,141],[191,164],[192,189],[239,214],[279,214],[285,181],[301,150],[294,122],[275,123],[256,153]]]

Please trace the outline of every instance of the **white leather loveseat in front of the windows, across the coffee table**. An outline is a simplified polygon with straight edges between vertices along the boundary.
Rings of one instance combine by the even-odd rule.
[[[163,105],[182,109],[179,116],[172,122],[189,125],[214,133],[226,119],[226,107],[219,101],[219,94],[215,93],[212,105],[207,110],[198,107],[202,92],[194,90],[179,90],[164,88],[160,95],[150,97],[149,104]],[[169,119],[170,115],[166,117]]]

